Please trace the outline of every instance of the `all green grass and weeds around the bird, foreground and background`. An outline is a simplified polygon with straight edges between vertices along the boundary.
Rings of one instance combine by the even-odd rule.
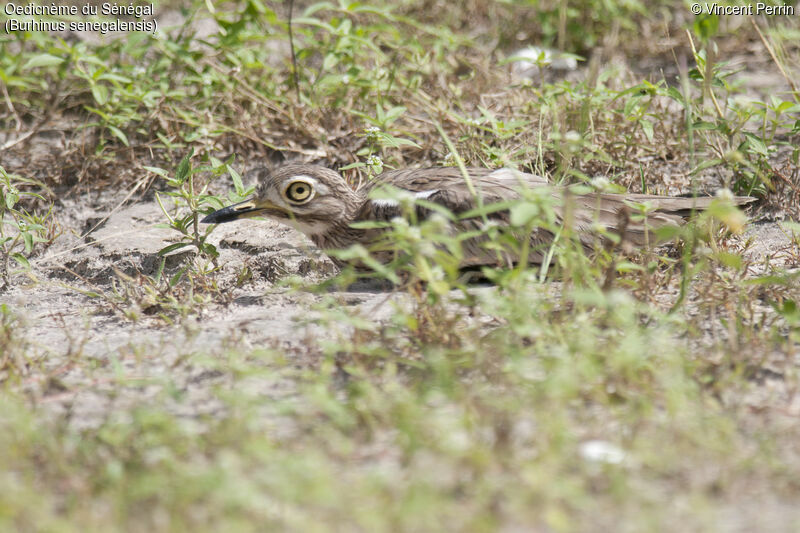
[[[726,58],[766,41],[759,57],[791,79],[797,19],[759,20],[762,41],[683,3],[644,6],[298,3],[296,70],[277,3],[185,3],[170,38],[0,36],[10,138],[64,117],[89,133],[49,160],[0,153],[0,291],[36,281],[56,195],[152,186],[177,239],[163,254],[197,252],[108,287],[71,281],[120,331],[170,336],[107,358],[85,353],[88,325],[56,356],[37,318],[0,305],[0,529],[709,531],[755,527],[762,509],[796,528],[796,236],[788,265],[750,264],[724,204],[670,250],[587,257],[567,230],[551,268],[487,270],[491,287],[464,283],[439,221],[395,224],[403,253],[375,274],[400,285],[387,316],[301,281],[290,297],[315,303],[291,348],[191,342],[233,290],[198,216],[249,194],[250,160],[353,182],[462,159],[632,191],[728,187],[796,219],[800,94],[754,96]],[[219,30],[201,40],[203,18]],[[667,59],[641,43],[666,32]],[[586,75],[510,78],[502,59],[538,43],[587,57]],[[607,64],[612,50],[659,68]],[[526,198],[512,229],[547,213]]]

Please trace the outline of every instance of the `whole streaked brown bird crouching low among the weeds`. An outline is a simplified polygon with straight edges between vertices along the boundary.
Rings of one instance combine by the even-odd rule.
[[[465,179],[466,172],[468,179]],[[550,184],[545,178],[511,168],[488,169],[457,167],[410,168],[385,171],[361,187],[352,187],[338,172],[310,164],[287,164],[274,170],[256,171],[257,186],[252,198],[206,215],[201,222],[219,224],[234,220],[267,217],[301,231],[323,251],[342,250],[355,244],[365,247],[380,241],[386,231],[380,224],[408,215],[408,207],[397,199],[406,195],[414,201],[416,218],[435,216],[433,204],[446,208],[454,217],[451,232],[475,232],[462,242],[463,268],[511,265],[518,257],[513,252],[498,253],[486,246],[488,225],[507,226],[511,222],[510,203],[525,197],[525,190],[544,191],[552,198],[553,225],[534,227],[529,234],[529,263],[549,261],[548,248],[557,238],[557,227],[570,224],[581,245],[591,251],[598,242],[609,242],[608,234],[618,234],[633,246],[655,241],[653,230],[679,226],[694,211],[708,208],[713,197],[671,197],[651,194],[578,192]],[[395,195],[379,193],[394,190]],[[755,200],[735,196],[733,204]],[[644,218],[630,216],[631,206],[646,205]],[[492,208],[496,205],[496,208]],[[476,208],[483,206],[481,213]],[[488,208],[487,208],[488,206]],[[472,212],[472,213],[470,213]],[[365,227],[367,226],[367,227]],[[386,226],[386,224],[384,224]],[[598,228],[605,228],[599,230]],[[611,239],[613,240],[613,239]],[[620,239],[617,239],[618,241]],[[385,242],[383,243],[386,244]],[[386,246],[375,252],[376,260],[388,263],[394,257]],[[331,257],[343,267],[348,261]],[[364,270],[363,264],[355,264]]]

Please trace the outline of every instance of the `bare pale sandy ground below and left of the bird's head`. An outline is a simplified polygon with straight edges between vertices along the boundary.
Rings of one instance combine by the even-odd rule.
[[[147,314],[153,311],[147,309],[146,298],[145,303],[126,301],[114,293],[115,286],[124,285],[119,273],[155,274],[158,250],[174,242],[174,232],[155,227],[163,221],[158,205],[139,203],[109,213],[87,208],[88,203],[78,198],[59,208],[60,220],[70,220],[71,226],[31,261],[30,279],[17,276],[2,295],[2,302],[21,318],[16,336],[30,343],[27,391],[54,413],[66,413],[78,427],[100,424],[126,403],[146,400],[148,391],[155,394],[166,378],[196,397],[181,403],[195,410],[183,414],[211,413],[219,408],[211,389],[223,377],[195,367],[187,356],[215,357],[232,347],[264,348],[280,350],[298,365],[313,364],[303,360],[308,357],[304,346],[310,336],[326,332],[307,321],[321,299],[333,297],[380,317],[392,311],[390,301],[399,297],[374,289],[320,295],[281,286],[288,275],[312,282],[332,275],[335,268],[290,228],[270,221],[234,223],[219,226],[211,238],[220,251],[218,283],[229,303],[202,306],[196,315],[170,325]],[[94,226],[95,231],[80,237]],[[173,254],[166,270],[174,271],[186,259],[186,254]],[[244,265],[252,278],[237,288]],[[119,303],[115,307],[109,302]],[[139,318],[126,318],[125,311]],[[77,364],[78,356],[94,360],[95,368],[88,371]],[[115,385],[120,375],[155,384],[120,389]],[[267,394],[291,389],[287,382],[260,386]]]

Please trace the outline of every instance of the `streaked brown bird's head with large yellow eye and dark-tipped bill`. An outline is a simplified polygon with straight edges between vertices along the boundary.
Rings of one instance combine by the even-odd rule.
[[[358,207],[358,194],[337,172],[315,165],[286,165],[272,172],[260,170],[252,198],[214,211],[202,222],[263,216],[315,235],[348,222]]]

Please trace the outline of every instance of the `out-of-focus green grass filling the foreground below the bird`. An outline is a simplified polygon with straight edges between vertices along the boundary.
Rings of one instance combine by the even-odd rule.
[[[305,369],[271,350],[183,354],[176,375],[224,377],[211,414],[176,415],[194,409],[168,374],[79,430],[7,385],[6,527],[703,529],[720,503],[754,496],[750,483],[793,497],[798,464],[781,443],[797,435],[743,402],[753,362],[687,343],[686,319],[624,292],[523,287],[472,303],[497,321],[488,333],[463,304],[435,322],[423,306],[381,329],[323,313],[331,337],[309,346],[319,362]],[[114,387],[136,390],[143,370]],[[285,379],[288,397],[253,386]],[[624,455],[589,455],[598,440]]]

